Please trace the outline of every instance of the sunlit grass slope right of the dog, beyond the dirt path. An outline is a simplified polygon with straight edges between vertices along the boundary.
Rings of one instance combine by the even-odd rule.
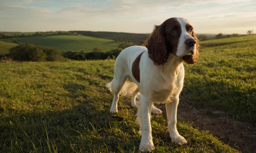
[[[219,108],[256,121],[256,35],[202,41],[198,63],[185,65],[182,95],[198,107]],[[216,45],[218,44],[218,45]]]

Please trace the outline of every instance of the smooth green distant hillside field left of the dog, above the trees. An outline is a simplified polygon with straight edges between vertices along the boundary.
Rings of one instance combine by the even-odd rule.
[[[61,49],[63,51],[92,52],[95,47],[102,49],[103,52],[116,49],[119,42],[110,39],[94,38],[82,35],[46,35],[31,36],[21,38],[1,39],[5,42],[15,42],[21,44],[33,44],[36,46],[46,46]]]

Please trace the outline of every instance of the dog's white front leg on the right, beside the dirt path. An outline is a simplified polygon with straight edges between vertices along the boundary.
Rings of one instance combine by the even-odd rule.
[[[178,107],[179,97],[175,97],[171,102],[165,103],[166,115],[168,120],[168,129],[172,142],[177,143],[187,143],[186,139],[181,136],[177,131],[177,107]]]

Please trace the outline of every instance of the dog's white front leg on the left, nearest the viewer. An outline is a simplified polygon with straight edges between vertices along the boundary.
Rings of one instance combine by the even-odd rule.
[[[138,112],[138,121],[140,122],[142,138],[139,148],[142,151],[152,151],[155,148],[152,140],[152,129],[150,124],[153,102],[149,101],[149,99],[143,95],[140,95],[140,98],[141,104]]]

